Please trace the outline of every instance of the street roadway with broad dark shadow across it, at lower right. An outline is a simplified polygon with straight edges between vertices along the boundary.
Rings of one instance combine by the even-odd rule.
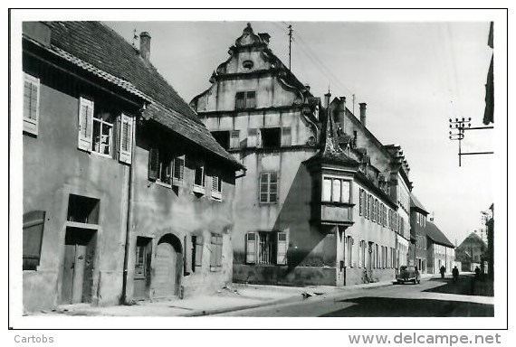
[[[492,296],[471,295],[473,277],[425,279],[419,285],[342,290],[295,303],[218,314],[224,316],[492,316]]]

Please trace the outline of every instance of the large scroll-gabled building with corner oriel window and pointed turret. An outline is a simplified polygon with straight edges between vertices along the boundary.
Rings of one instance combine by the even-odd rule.
[[[235,282],[347,286],[407,261],[408,164],[346,98],[324,101],[244,28],[190,105],[247,168],[236,184]]]

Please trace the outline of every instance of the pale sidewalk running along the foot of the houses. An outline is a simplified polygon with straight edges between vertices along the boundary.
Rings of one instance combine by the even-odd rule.
[[[262,286],[232,284],[212,294],[196,295],[185,299],[139,301],[135,305],[91,306],[62,305],[52,312],[42,314],[94,315],[94,316],[201,316],[239,311],[267,305],[303,301],[309,297],[327,297],[346,291],[390,286],[391,281],[355,286]]]

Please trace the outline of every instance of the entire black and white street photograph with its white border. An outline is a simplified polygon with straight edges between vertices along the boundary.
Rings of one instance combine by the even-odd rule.
[[[10,326],[507,324],[505,9],[9,25]]]

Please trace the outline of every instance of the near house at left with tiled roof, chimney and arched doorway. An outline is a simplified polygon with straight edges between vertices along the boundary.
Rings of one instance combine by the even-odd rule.
[[[25,22],[24,309],[231,280],[243,168],[148,60],[98,22]],[[20,115],[21,117],[21,115]]]

